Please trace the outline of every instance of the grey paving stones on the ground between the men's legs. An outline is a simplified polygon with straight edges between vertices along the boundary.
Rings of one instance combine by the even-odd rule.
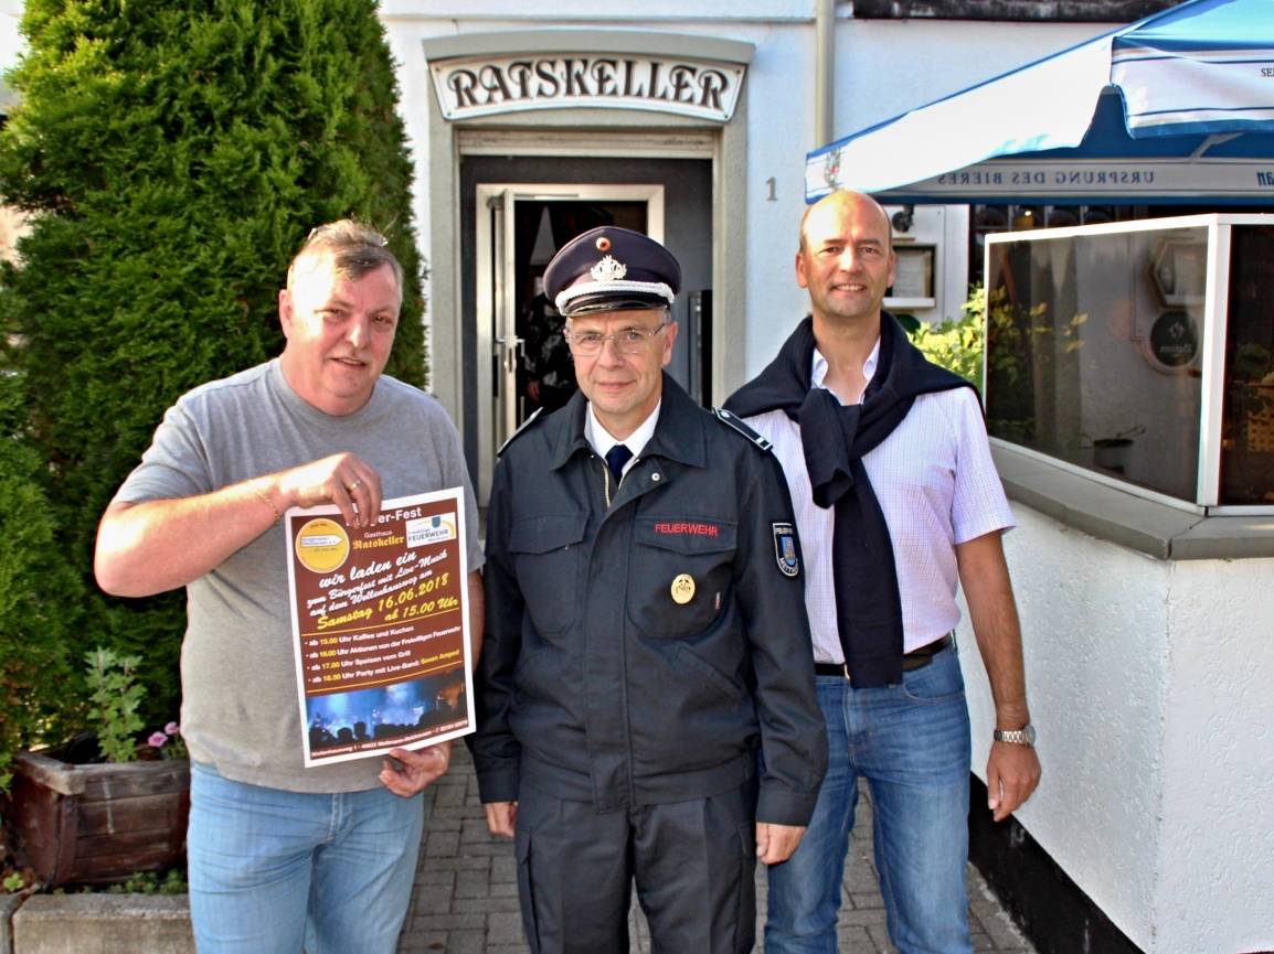
[[[897,954],[884,927],[884,902],[871,861],[871,805],[859,800],[859,817],[845,866],[841,917],[842,954]],[[517,909],[512,843],[487,833],[478,780],[464,745],[451,771],[426,792],[426,832],[415,889],[399,954],[527,954]],[[758,954],[766,875],[757,866]],[[970,926],[978,954],[1036,954],[971,865]],[[650,935],[636,904],[629,915],[629,954],[650,954]]]

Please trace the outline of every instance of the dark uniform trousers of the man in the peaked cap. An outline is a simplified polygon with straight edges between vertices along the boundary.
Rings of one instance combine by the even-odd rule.
[[[517,889],[531,954],[628,954],[632,885],[651,954],[748,954],[755,940],[757,784],[598,812],[519,795]]]

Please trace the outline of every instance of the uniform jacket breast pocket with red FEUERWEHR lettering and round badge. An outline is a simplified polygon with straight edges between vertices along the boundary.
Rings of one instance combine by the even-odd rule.
[[[729,604],[738,524],[646,516],[633,536],[628,618],[654,636],[693,636]]]

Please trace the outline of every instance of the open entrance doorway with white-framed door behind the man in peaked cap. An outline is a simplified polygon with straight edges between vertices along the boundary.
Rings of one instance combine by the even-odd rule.
[[[698,176],[687,177],[687,167]],[[464,438],[484,505],[501,445],[534,411],[552,411],[575,391],[562,319],[539,280],[553,254],[582,232],[633,229],[678,257],[683,287],[673,318],[682,335],[669,371],[696,399],[711,393],[701,359],[705,337],[711,340],[711,163],[476,156],[466,158],[462,170],[469,233],[462,238],[471,262],[464,281],[471,290],[465,295],[471,307],[464,309],[465,378],[471,382]],[[563,181],[572,170],[585,181]],[[675,226],[668,238],[666,221]]]

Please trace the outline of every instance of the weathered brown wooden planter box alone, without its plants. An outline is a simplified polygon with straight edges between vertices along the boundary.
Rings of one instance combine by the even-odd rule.
[[[9,803],[23,860],[46,887],[111,884],[185,857],[190,763],[76,766],[23,752]]]

